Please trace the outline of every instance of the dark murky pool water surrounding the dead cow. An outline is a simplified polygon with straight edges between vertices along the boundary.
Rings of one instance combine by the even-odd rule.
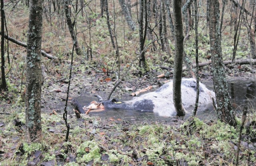
[[[208,89],[213,90],[213,82],[212,81],[203,81],[208,87]],[[256,96],[256,81],[253,79],[230,79],[228,80],[228,89],[232,101],[232,106],[234,110],[240,113],[240,110],[243,109],[245,104],[249,104],[255,107],[255,96]],[[131,97],[132,98],[132,97]],[[82,94],[79,97],[76,97],[78,102],[82,105],[88,105],[91,101],[97,100],[92,94]],[[128,99],[125,99],[128,100]],[[192,110],[187,109],[188,113],[184,117],[187,119],[192,115]],[[109,109],[102,112],[92,112],[91,116],[99,116],[101,118],[112,118],[126,121],[139,121],[139,122],[165,122],[172,121],[174,117],[159,117],[154,113],[143,113],[139,111],[133,110],[122,110],[122,109]],[[216,113],[212,108],[207,110],[201,110],[198,108],[198,112],[196,115],[198,118],[202,120],[215,120],[217,119]]]

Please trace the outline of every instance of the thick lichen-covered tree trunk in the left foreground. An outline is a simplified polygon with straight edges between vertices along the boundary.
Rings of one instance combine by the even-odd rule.
[[[26,67],[26,127],[28,141],[38,142],[41,128],[41,41],[43,0],[30,0]]]

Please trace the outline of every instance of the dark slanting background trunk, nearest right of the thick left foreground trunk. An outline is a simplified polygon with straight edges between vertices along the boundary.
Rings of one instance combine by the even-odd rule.
[[[70,1],[69,0],[65,0],[65,15],[66,15],[66,22],[67,22],[67,25],[68,25],[68,30],[70,32],[70,35],[73,39],[73,42],[76,43],[76,54],[77,55],[81,55],[82,51],[79,47],[79,44],[78,44],[78,41],[77,41],[77,38],[76,38],[76,34],[74,32],[74,25],[75,25],[75,22],[72,23],[71,21],[71,11],[70,11],[70,8],[71,8],[71,5],[70,5]]]

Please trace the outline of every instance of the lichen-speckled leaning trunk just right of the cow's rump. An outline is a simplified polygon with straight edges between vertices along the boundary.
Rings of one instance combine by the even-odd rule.
[[[230,125],[236,125],[234,111],[232,109],[228,84],[226,81],[222,49],[220,39],[220,4],[218,0],[209,2],[210,16],[210,51],[212,59],[213,83],[216,95],[218,118]]]

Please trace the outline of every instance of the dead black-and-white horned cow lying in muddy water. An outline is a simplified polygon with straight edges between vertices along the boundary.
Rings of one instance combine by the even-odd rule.
[[[116,99],[103,101],[99,95],[96,95],[98,102],[93,101],[88,106],[84,106],[81,113],[88,114],[90,111],[103,111],[107,109],[126,109],[136,110],[142,112],[153,112],[159,116],[175,116],[176,110],[173,103],[173,82],[170,81],[154,92],[134,97],[128,101],[117,101]],[[215,99],[215,93],[206,88],[202,83],[199,84],[199,102],[198,107],[203,110],[212,107],[212,98]],[[182,91],[182,104],[186,110],[194,108],[196,101],[196,80],[192,78],[182,79],[181,84]],[[73,101],[73,105],[76,105],[77,101]],[[79,103],[78,103],[79,104]],[[79,107],[81,109],[81,107]],[[79,110],[78,110],[79,111]]]

